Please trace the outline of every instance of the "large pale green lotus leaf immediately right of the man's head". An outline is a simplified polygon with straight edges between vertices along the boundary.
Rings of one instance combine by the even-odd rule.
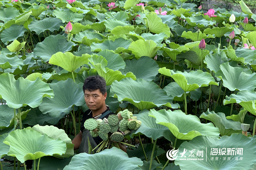
[[[143,79],[132,80],[124,78],[114,81],[110,88],[110,96],[118,101],[129,101],[140,110],[150,109],[165,105],[167,107],[177,108],[178,105],[172,104],[172,97],[168,96],[163,89],[151,81]]]

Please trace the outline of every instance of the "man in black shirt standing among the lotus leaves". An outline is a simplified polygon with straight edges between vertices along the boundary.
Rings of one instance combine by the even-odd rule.
[[[105,104],[107,90],[106,81],[103,77],[87,77],[83,84],[83,92],[85,103],[89,109],[83,114],[79,134],[76,135],[75,138],[72,140],[72,143],[75,145],[74,149],[78,149],[78,153],[88,153],[88,137],[92,148],[95,148],[99,143],[102,142],[102,139],[99,136],[93,138],[90,135],[89,130],[86,130],[84,128],[84,122],[89,118],[104,119],[108,118],[109,115],[114,114]],[[124,152],[127,151],[126,147],[123,144],[118,143],[118,145],[121,150],[123,150]]]

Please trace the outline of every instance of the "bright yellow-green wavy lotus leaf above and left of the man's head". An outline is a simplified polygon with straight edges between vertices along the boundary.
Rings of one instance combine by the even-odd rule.
[[[49,59],[49,63],[60,66],[68,72],[74,72],[76,69],[80,68],[81,65],[88,63],[89,57],[91,57],[89,54],[77,57],[70,52],[58,52],[52,55]]]

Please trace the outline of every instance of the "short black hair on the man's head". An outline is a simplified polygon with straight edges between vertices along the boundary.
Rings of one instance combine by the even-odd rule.
[[[85,90],[94,91],[99,89],[99,91],[104,95],[107,92],[106,81],[101,76],[89,76],[84,80],[83,92]]]

